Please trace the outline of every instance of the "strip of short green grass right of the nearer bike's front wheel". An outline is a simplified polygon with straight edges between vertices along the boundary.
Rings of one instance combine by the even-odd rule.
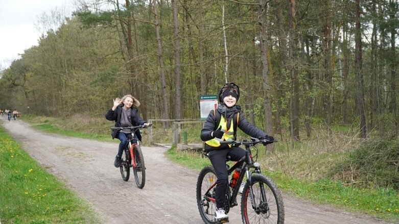
[[[399,196],[392,188],[358,188],[341,181],[298,180],[279,172],[266,172],[283,191],[320,204],[399,220]]]

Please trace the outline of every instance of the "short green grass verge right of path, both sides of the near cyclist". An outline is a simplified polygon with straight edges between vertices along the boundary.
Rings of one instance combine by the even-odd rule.
[[[176,148],[171,148],[167,156],[198,172],[210,164],[207,158],[201,157],[198,153],[176,150]],[[264,157],[261,151],[259,156]],[[265,164],[261,158],[259,160],[261,164]],[[399,221],[399,195],[392,188],[365,189],[326,179],[299,180],[295,178],[295,173],[287,175],[281,171],[270,171],[267,170],[267,166],[263,166],[263,173],[271,177],[279,189],[288,194],[319,204],[344,207],[349,211]]]

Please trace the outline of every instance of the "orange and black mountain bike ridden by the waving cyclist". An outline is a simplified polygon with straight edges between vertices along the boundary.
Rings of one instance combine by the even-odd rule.
[[[137,187],[140,189],[146,184],[146,165],[144,163],[142,149],[134,133],[139,128],[147,128],[150,126],[152,126],[151,123],[148,126],[140,125],[134,127],[111,128],[111,130],[129,130],[131,133],[131,137],[128,138],[128,143],[122,154],[122,163],[119,168],[121,170],[122,179],[128,181],[130,178],[130,167],[133,167],[134,180],[136,181]]]

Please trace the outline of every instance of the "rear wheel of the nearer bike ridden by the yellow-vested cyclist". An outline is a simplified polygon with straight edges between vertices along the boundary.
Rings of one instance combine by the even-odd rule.
[[[213,166],[205,166],[197,180],[197,205],[202,220],[206,224],[219,223],[215,219],[216,172]]]

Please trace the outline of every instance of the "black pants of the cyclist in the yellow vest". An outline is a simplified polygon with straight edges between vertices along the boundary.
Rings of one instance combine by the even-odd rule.
[[[239,161],[245,156],[245,150],[240,147],[226,148],[224,150],[213,150],[208,158],[216,171],[216,207],[224,208],[225,194],[228,187],[228,173],[226,168],[226,157],[229,155],[231,161]]]

